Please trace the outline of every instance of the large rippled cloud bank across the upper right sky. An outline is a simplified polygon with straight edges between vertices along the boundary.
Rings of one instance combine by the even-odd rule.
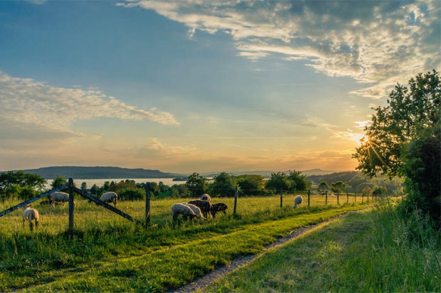
[[[197,31],[228,33],[238,55],[304,60],[329,76],[368,83],[380,99],[397,82],[440,67],[440,1],[124,1]]]

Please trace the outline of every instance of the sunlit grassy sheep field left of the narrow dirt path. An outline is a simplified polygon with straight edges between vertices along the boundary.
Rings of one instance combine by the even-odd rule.
[[[304,197],[305,198],[305,197]],[[344,200],[343,200],[344,199]],[[294,195],[243,197],[238,215],[232,216],[233,199],[225,202],[228,216],[215,220],[173,223],[170,206],[187,199],[152,201],[152,224],[148,231],[95,204],[76,199],[75,233],[68,226],[67,204],[50,209],[34,203],[41,226],[31,233],[21,226],[21,210],[0,218],[0,291],[77,289],[83,291],[164,291],[225,265],[240,255],[258,253],[263,245],[292,229],[318,223],[346,211],[363,209],[346,196],[341,205],[324,205],[314,196],[292,209]],[[352,199],[354,201],[354,199]],[[14,204],[4,202],[0,209]],[[121,201],[118,208],[135,219],[144,218],[143,201]]]

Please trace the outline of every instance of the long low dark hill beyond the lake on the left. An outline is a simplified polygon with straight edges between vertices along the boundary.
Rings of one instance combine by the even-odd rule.
[[[57,176],[77,179],[113,179],[113,178],[173,178],[180,175],[148,169],[128,169],[120,167],[76,167],[59,166],[43,167],[38,169],[23,170],[27,173],[37,174],[45,179],[54,179]]]

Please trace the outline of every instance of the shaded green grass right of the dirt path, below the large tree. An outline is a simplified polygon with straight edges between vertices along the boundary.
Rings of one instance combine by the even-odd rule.
[[[440,265],[440,231],[386,205],[271,250],[206,291],[441,292]]]

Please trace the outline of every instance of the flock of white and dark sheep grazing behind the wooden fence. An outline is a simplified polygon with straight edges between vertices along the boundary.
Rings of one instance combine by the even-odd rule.
[[[118,194],[115,192],[105,192],[100,197],[101,201],[107,203],[113,203],[115,207],[117,206]],[[53,192],[51,194],[51,207],[55,206],[55,203],[63,204],[69,201],[69,194],[65,192]],[[299,204],[302,204],[302,197],[297,196],[294,199],[294,208]],[[48,201],[42,201],[41,204],[48,204]],[[75,201],[74,201],[75,204]],[[31,209],[31,204],[27,204],[23,207],[23,226],[26,221],[29,222],[29,228],[31,231],[33,230],[33,221],[35,222],[35,226],[38,226],[39,215],[36,209]],[[203,194],[201,199],[192,200],[187,202],[182,202],[180,204],[174,204],[171,206],[171,214],[173,215],[173,220],[176,221],[179,215],[181,215],[184,219],[188,219],[188,217],[192,220],[193,218],[198,219],[207,219],[208,216],[212,216],[213,219],[216,218],[216,214],[218,212],[223,212],[226,215],[226,210],[228,206],[223,203],[211,204],[211,198],[208,194]]]

